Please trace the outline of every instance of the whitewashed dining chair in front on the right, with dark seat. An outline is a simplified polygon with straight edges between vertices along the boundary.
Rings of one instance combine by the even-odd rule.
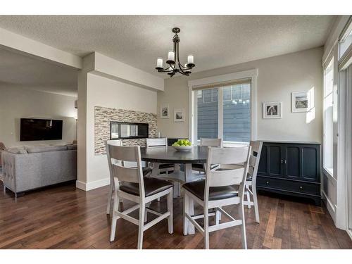
[[[208,161],[206,179],[196,182],[189,182],[183,185],[184,188],[184,235],[188,234],[188,225],[194,225],[204,236],[204,245],[209,249],[209,232],[222,230],[227,227],[241,225],[242,246],[247,249],[246,227],[244,220],[244,184],[249,170],[249,155],[251,146],[239,148],[212,148],[208,149]],[[234,164],[243,165],[234,165]],[[224,168],[214,168],[211,165],[221,164]],[[232,168],[231,165],[234,165]],[[190,215],[193,211],[194,201],[203,207],[203,214]],[[239,219],[236,220],[222,209],[222,206],[237,205]],[[215,212],[209,212],[215,209]],[[209,225],[209,217],[220,212],[230,218],[228,222],[216,222]],[[196,219],[203,218],[204,225],[201,227]]]

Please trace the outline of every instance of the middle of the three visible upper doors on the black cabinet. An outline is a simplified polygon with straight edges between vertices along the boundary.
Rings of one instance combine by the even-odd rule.
[[[285,146],[285,177],[290,179],[298,179],[301,175],[301,149],[299,145]]]

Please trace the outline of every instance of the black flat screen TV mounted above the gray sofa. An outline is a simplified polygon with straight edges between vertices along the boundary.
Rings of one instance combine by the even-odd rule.
[[[20,141],[56,140],[63,137],[63,120],[21,118]]]

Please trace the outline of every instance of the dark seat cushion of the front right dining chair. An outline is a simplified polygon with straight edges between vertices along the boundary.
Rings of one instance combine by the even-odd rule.
[[[204,201],[204,188],[206,180],[199,180],[196,182],[187,182],[182,187],[187,189],[191,194],[194,194],[199,199]],[[225,186],[225,187],[210,187],[209,188],[209,201],[228,199],[238,196],[236,186]]]

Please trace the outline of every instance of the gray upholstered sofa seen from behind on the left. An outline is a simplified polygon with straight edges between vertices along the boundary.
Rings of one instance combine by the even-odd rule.
[[[18,193],[77,179],[77,146],[34,146],[2,153],[4,187]]]

